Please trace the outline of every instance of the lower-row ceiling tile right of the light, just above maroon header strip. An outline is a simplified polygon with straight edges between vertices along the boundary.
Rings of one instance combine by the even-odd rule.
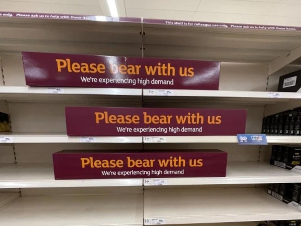
[[[144,18],[152,18],[152,19],[192,20],[194,12],[191,12],[191,11],[172,11],[172,10],[126,8],[126,14],[127,14],[128,17],[144,17]]]

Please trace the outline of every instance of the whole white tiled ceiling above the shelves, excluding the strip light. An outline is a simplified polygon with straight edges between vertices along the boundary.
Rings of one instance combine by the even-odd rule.
[[[119,16],[301,26],[301,0],[115,0]],[[110,16],[106,0],[0,0],[0,11]]]

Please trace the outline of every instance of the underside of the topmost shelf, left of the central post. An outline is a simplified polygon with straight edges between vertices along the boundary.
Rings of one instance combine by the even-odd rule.
[[[0,51],[141,55],[140,18],[90,17],[91,20],[0,17]]]

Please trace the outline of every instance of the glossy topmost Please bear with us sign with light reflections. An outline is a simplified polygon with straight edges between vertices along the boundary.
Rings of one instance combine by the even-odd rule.
[[[23,52],[29,86],[219,89],[219,62]]]

